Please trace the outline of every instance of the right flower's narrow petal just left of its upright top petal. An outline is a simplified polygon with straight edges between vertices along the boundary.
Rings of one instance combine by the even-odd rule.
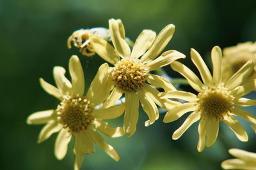
[[[191,60],[197,67],[205,85],[207,86],[211,85],[212,75],[208,67],[206,66],[204,60],[202,59],[201,55],[198,52],[196,52],[196,50],[193,48],[191,48],[190,55],[191,55]]]

